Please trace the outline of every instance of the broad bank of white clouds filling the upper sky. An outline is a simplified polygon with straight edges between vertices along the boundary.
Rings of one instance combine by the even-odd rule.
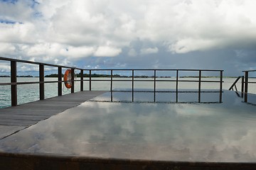
[[[251,0],[38,2],[33,7],[28,1],[0,2],[0,42],[9,44],[2,53],[58,61],[60,56],[117,56],[136,40],[174,53],[256,45],[256,1]],[[159,52],[144,47],[150,46],[136,50]]]

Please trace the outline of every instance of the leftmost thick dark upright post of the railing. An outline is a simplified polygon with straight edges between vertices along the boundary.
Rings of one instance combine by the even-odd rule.
[[[17,106],[17,64],[11,61],[11,106]]]

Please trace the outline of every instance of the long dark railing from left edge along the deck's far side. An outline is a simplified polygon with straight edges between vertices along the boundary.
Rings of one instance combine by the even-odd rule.
[[[222,102],[222,91],[223,91],[223,70],[215,70],[215,69],[81,69],[76,67],[67,67],[61,66],[57,64],[46,64],[42,62],[31,62],[26,60],[16,60],[10,59],[5,57],[0,57],[0,60],[9,61],[11,62],[11,83],[0,83],[0,86],[11,86],[11,106],[17,106],[17,86],[21,84],[39,84],[39,96],[40,100],[45,99],[44,94],[44,85],[47,83],[58,83],[58,96],[62,96],[62,89],[63,89],[63,80],[62,80],[62,69],[71,69],[71,76],[72,76],[72,83],[73,86],[71,87],[71,93],[74,93],[75,89],[75,81],[80,81],[80,91],[83,91],[83,82],[89,81],[89,90],[92,90],[92,81],[110,81],[110,91],[113,90],[113,82],[114,81],[131,81],[132,86],[132,94],[134,93],[134,82],[135,81],[153,81],[154,82],[154,93],[156,93],[156,82],[175,82],[176,83],[176,97],[178,98],[178,83],[179,82],[197,82],[198,83],[198,101],[201,101],[201,83],[218,83],[219,84],[219,92],[220,92],[220,103]],[[39,81],[29,81],[29,82],[17,82],[17,62],[27,63],[27,64],[37,64],[39,66]],[[45,81],[44,77],[44,68],[45,66],[49,67],[57,67],[58,68],[58,81]],[[75,69],[80,70],[80,80],[75,80]],[[92,79],[92,72],[110,72],[110,79]],[[113,79],[113,71],[119,72],[131,72],[132,79]],[[154,75],[151,77],[153,79],[134,79],[134,72],[153,72]],[[157,79],[157,72],[174,72],[176,74],[175,79]],[[89,79],[84,79],[84,72],[89,72],[88,77]],[[187,79],[179,79],[179,75],[181,72],[198,72],[196,75],[197,80],[187,80]],[[220,77],[219,81],[213,80],[202,80],[202,72],[219,72],[218,77]]]

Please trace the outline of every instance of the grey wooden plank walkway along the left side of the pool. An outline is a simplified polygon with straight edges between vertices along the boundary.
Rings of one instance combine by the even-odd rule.
[[[80,91],[19,106],[0,109],[0,139],[23,130],[68,108],[78,106],[106,91]]]

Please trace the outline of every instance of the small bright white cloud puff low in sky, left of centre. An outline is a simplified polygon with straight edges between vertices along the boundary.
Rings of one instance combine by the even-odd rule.
[[[121,52],[122,49],[120,48],[101,46],[97,48],[94,55],[96,57],[114,57],[119,55]]]

